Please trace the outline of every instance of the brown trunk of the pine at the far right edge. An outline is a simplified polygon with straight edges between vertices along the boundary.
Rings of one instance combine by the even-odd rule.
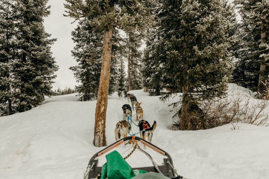
[[[263,30],[264,25],[261,24],[261,43],[266,43],[266,32],[265,30]],[[266,74],[264,74],[266,69],[266,64],[265,64],[265,59],[263,58],[263,60],[261,61],[261,65],[260,65],[260,76],[259,76],[259,84],[258,84],[258,94],[262,94],[264,93],[264,86],[262,82],[265,82],[266,80]]]

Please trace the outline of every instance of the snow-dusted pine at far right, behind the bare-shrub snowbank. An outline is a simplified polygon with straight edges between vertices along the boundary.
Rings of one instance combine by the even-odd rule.
[[[263,93],[263,84],[268,75],[269,46],[269,1],[235,0],[242,17],[243,48],[240,63],[245,65],[245,73],[250,77],[248,85],[252,90]],[[248,80],[248,79],[247,79]]]

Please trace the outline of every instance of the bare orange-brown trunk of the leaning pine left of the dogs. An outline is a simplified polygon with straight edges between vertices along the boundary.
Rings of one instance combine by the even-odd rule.
[[[97,104],[95,109],[94,146],[103,147],[107,145],[105,137],[105,118],[107,113],[109,75],[112,52],[112,29],[104,31],[104,44],[100,83],[98,89]]]

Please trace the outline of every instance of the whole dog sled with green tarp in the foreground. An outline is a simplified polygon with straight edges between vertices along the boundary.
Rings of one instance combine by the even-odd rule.
[[[107,162],[103,166],[98,166],[98,157],[104,155],[105,153],[109,152],[113,148],[123,144],[125,141],[128,141],[129,144],[133,144],[133,151],[137,148],[142,153],[146,154],[148,158],[152,161],[153,166],[150,167],[137,167],[132,168],[125,159],[128,158],[133,151],[123,158],[117,151],[110,152],[106,155]],[[156,162],[151,158],[151,156],[142,150],[139,145],[138,141],[141,144],[153,149],[154,151],[158,152],[159,154],[166,156],[167,158],[163,159],[163,165],[157,166]],[[87,167],[87,170],[84,175],[84,179],[88,178],[101,178],[101,179],[169,179],[169,178],[176,178],[176,179],[183,179],[182,176],[177,174],[173,166],[173,161],[170,155],[165,152],[164,150],[158,148],[157,146],[149,143],[148,141],[136,137],[136,136],[129,136],[120,139],[119,141],[115,142],[114,144],[109,145],[108,147],[102,149],[101,151],[94,154]]]

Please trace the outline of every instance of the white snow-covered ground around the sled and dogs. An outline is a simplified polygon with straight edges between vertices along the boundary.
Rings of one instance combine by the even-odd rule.
[[[229,89],[253,96],[235,84]],[[167,151],[178,173],[186,178],[268,178],[269,127],[239,123],[199,131],[172,131],[172,107],[143,90],[131,91],[141,103],[144,119],[157,121],[152,143]],[[0,118],[0,178],[82,178],[89,159],[102,148],[94,147],[94,113],[96,101],[77,101],[76,94],[46,98],[43,105],[30,111]],[[106,136],[108,145],[115,142],[114,129],[122,120],[122,105],[114,93],[109,97]],[[130,104],[130,102],[129,102]],[[134,118],[135,119],[135,116]],[[133,132],[139,128],[132,126]],[[115,148],[119,153],[130,146]],[[131,151],[131,149],[130,149]],[[130,151],[123,154],[123,157]],[[161,165],[163,156],[147,148]],[[126,161],[132,167],[152,166],[136,150]],[[99,166],[105,163],[100,157]]]

